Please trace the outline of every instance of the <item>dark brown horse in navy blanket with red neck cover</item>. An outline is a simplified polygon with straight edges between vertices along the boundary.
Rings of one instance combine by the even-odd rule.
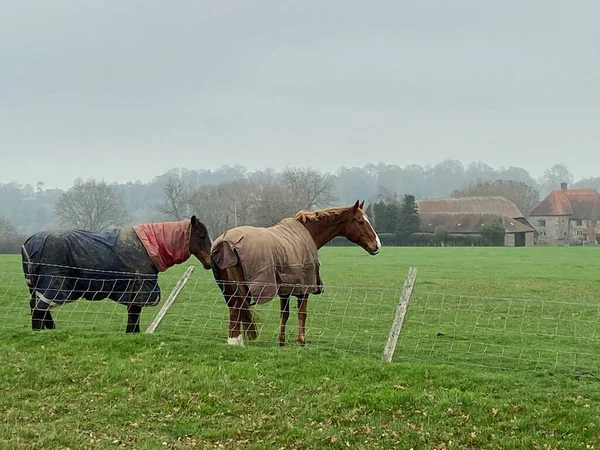
[[[160,302],[158,273],[194,255],[210,270],[211,240],[195,215],[106,231],[41,231],[21,246],[31,329],[54,329],[50,309],[80,298],[127,307],[126,333],[139,333],[142,307]]]

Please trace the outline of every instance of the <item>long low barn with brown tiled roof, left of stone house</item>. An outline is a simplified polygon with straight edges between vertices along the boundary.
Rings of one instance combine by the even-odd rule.
[[[504,224],[504,245],[531,246],[535,230],[519,208],[504,197],[459,197],[417,201],[421,231],[434,233],[439,226],[453,235],[479,235],[495,220]]]

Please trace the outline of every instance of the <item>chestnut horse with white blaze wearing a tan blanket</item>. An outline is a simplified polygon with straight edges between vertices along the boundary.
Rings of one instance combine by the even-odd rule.
[[[211,265],[229,308],[229,345],[244,345],[244,336],[258,338],[250,306],[275,296],[280,297],[279,345],[285,345],[290,296],[298,301],[297,340],[306,344],[307,300],[323,291],[317,251],[337,236],[370,255],[381,249],[363,206],[357,200],[348,207],[301,210],[272,227],[240,226],[215,239]]]

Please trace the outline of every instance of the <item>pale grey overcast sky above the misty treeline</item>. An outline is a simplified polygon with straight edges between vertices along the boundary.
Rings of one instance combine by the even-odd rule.
[[[0,182],[446,158],[600,176],[597,0],[0,7]]]

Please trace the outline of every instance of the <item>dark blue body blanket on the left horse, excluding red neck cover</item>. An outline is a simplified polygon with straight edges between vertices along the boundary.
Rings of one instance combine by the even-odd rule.
[[[21,256],[32,298],[48,306],[79,298],[160,302],[159,271],[133,228],[44,231],[25,241]]]

